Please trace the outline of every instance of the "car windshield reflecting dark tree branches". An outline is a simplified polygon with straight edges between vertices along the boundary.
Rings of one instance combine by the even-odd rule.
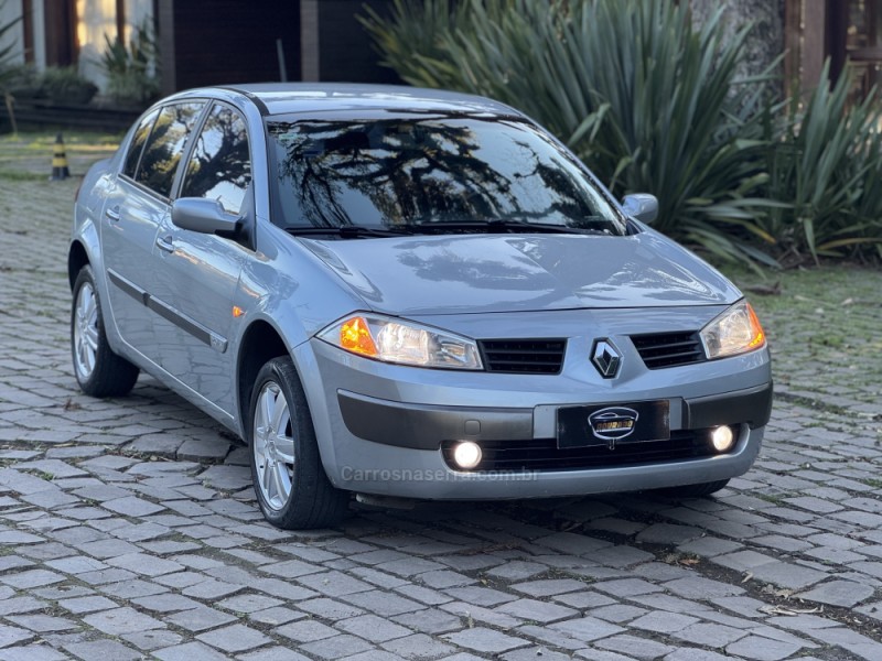
[[[584,167],[516,119],[270,118],[268,132],[279,184],[273,220],[289,230],[482,231],[486,223],[625,232]]]

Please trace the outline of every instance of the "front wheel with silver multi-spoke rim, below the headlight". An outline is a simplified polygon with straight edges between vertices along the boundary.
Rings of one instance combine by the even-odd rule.
[[[283,530],[329,528],[348,510],[349,494],[322,466],[306,397],[289,357],[257,375],[246,427],[251,477],[263,517]]]

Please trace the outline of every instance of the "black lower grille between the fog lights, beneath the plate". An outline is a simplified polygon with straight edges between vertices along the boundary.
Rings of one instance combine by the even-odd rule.
[[[585,470],[701,459],[717,454],[711,448],[709,435],[709,430],[673,431],[666,441],[620,442],[615,449],[606,445],[558,449],[555,438],[482,441],[481,464],[475,472]],[[441,447],[444,460],[454,470],[453,447],[456,443],[445,442]]]

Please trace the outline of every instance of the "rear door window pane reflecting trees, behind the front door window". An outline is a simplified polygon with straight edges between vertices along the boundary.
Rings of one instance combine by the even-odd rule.
[[[171,195],[174,173],[181,162],[186,138],[203,106],[202,102],[175,104],[160,110],[144,145],[135,181],[163,197]]]

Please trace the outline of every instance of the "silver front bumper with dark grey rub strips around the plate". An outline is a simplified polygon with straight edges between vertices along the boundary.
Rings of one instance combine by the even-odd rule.
[[[301,376],[310,381],[308,398],[329,478],[338,488],[365,494],[503,499],[710,483],[751,467],[771,411],[767,350],[647,370],[623,339],[619,346],[626,347],[632,369],[609,380],[570,342],[574,350],[568,349],[561,373],[536,376],[394,366],[313,339],[301,347],[302,364],[309,366]],[[636,443],[559,452],[561,407],[647,401],[667,402],[676,452]],[[735,444],[724,454],[707,452],[709,432],[719,425],[735,431]],[[517,457],[458,470],[449,452],[456,441],[474,441],[497,456],[513,451],[508,454]],[[521,464],[519,457],[527,460]]]

